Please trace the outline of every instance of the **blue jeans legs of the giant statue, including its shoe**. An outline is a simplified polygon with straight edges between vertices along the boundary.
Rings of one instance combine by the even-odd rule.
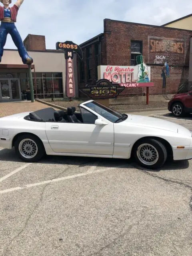
[[[33,59],[28,55],[15,24],[11,22],[1,22],[0,25],[0,62],[3,56],[4,46],[6,44],[8,34],[11,35],[15,46],[18,48],[18,52],[22,58],[23,64],[32,64]]]

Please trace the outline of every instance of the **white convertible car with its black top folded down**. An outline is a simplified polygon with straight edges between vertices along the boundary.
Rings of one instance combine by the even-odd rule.
[[[158,118],[121,114],[88,100],[56,111],[44,108],[0,118],[0,146],[26,162],[44,154],[124,158],[133,156],[146,168],[166,161],[192,159],[190,130]]]

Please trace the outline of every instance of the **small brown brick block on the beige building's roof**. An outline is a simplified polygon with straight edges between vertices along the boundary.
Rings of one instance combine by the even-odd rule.
[[[28,51],[45,51],[45,36],[28,34],[24,40],[24,46]]]

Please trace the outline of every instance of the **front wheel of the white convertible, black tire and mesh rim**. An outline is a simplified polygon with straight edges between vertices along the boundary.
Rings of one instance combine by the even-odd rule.
[[[146,144],[150,146],[147,146]],[[167,150],[164,144],[158,140],[150,138],[143,138],[142,140],[136,142],[133,148],[133,154],[136,162],[140,166],[153,170],[162,167],[167,159]],[[151,160],[155,158],[155,160],[150,162],[149,158]]]

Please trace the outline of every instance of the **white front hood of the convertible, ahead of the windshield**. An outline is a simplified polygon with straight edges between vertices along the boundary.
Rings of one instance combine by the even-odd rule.
[[[170,121],[162,120],[160,118],[154,118],[150,116],[130,115],[127,114],[128,118],[124,121],[125,123],[134,124],[135,126],[149,127],[154,129],[160,129],[170,132],[176,132],[186,136],[192,136],[190,130],[187,128],[175,124]]]

